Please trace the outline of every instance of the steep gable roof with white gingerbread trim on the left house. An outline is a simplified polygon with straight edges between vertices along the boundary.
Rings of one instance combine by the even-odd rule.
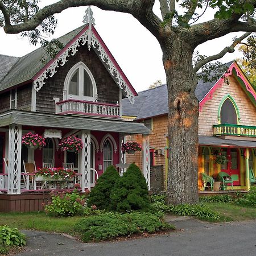
[[[134,103],[137,92],[93,26],[91,29],[88,24],[81,26],[61,36],[59,40],[64,47],[57,53],[55,59],[51,59],[42,47],[21,57],[0,82],[0,92],[32,81],[34,81],[35,90],[40,90],[46,83],[45,80],[52,77],[57,72],[57,68],[65,65],[70,55],[76,54],[78,47],[88,43],[88,48],[93,48],[96,52],[115,83],[121,88],[123,95]]]

